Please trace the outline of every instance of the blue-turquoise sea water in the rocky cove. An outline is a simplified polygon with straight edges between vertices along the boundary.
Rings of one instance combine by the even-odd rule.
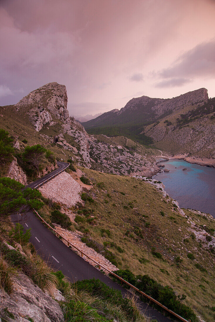
[[[184,160],[161,161],[170,172],[153,177],[165,185],[169,196],[181,208],[191,208],[210,213],[215,218],[215,169],[191,164]],[[182,169],[187,168],[186,171]]]

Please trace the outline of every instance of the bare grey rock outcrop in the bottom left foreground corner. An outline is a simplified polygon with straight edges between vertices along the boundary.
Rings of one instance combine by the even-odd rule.
[[[4,321],[63,322],[59,304],[24,274],[13,277],[10,295],[0,289],[0,316]]]

